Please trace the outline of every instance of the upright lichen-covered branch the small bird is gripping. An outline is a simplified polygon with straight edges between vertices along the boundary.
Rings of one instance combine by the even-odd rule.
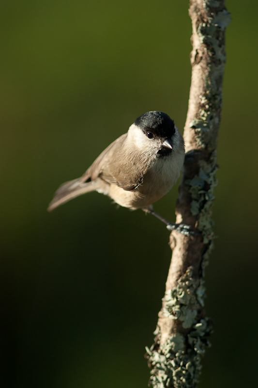
[[[212,201],[216,185],[216,145],[222,109],[225,29],[224,0],[190,0],[192,81],[184,127],[186,158],[179,188],[177,223],[201,236],[173,231],[172,260],[159,312],[155,343],[147,348],[154,388],[194,388],[200,358],[209,344],[212,321],[205,317],[204,267],[213,246]]]

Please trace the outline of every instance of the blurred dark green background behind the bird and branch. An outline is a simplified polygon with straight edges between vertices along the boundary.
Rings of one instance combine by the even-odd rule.
[[[227,6],[200,388],[255,387],[257,376],[257,1]],[[147,387],[169,232],[97,193],[46,207],[140,114],[166,112],[183,131],[188,1],[2,0],[0,31],[0,386]],[[176,198],[155,209],[173,221]]]

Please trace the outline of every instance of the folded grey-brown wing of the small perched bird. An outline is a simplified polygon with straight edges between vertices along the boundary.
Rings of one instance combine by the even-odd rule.
[[[92,163],[81,182],[101,178],[110,184],[115,184],[124,190],[134,190],[142,181],[142,173],[135,164],[133,152],[124,149],[127,133],[110,144]]]

